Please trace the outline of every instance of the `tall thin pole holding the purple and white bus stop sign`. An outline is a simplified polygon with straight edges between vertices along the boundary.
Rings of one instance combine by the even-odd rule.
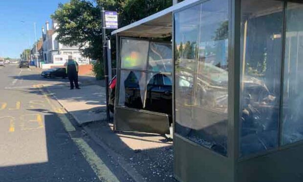
[[[106,117],[109,122],[109,107],[108,107],[108,62],[107,62],[107,42],[106,42],[106,25],[105,25],[105,10],[102,7],[102,44],[103,44],[103,63],[104,63],[104,78],[106,90]]]

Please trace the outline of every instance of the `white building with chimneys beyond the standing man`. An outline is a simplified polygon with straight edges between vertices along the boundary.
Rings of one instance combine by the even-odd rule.
[[[58,33],[55,30],[58,23],[52,21],[52,29],[49,29],[49,23],[46,22],[46,33],[43,29],[43,57],[46,64],[65,64],[68,56],[71,55],[80,65],[89,64],[89,59],[81,55],[79,46],[69,46],[59,43],[56,38]]]

